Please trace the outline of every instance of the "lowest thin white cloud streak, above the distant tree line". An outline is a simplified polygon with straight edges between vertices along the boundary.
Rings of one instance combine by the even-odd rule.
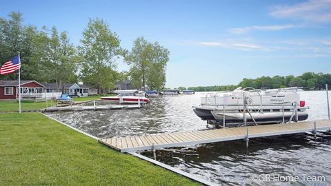
[[[261,45],[255,45],[251,43],[232,43],[232,42],[199,42],[199,45],[205,45],[210,47],[232,48],[239,50],[269,50]]]

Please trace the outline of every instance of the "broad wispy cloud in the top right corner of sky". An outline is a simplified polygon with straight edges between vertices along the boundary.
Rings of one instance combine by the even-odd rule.
[[[277,6],[270,12],[272,17],[301,19],[309,22],[331,22],[331,0],[310,0],[292,6]]]

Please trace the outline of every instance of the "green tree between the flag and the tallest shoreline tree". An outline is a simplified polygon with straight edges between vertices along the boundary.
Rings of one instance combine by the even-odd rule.
[[[57,91],[63,83],[77,82],[77,56],[74,45],[70,43],[66,32],[57,32],[53,27],[50,37],[47,32],[41,32],[32,41],[34,54],[31,57],[31,68],[37,68],[34,77],[37,81],[55,82]],[[32,70],[31,70],[32,71]]]

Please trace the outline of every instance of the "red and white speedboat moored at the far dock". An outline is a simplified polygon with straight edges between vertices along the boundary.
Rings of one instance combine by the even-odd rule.
[[[116,104],[147,104],[150,102],[145,97],[145,92],[139,90],[115,90],[116,96],[101,97],[101,101]]]

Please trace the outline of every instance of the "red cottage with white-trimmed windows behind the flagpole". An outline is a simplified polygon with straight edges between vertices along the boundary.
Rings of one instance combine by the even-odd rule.
[[[43,92],[44,86],[37,81],[21,81],[21,97],[35,97]],[[18,99],[19,81],[0,81],[0,99]]]

